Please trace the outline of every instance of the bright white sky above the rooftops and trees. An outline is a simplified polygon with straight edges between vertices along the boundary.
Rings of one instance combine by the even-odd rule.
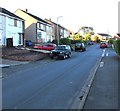
[[[93,27],[96,33],[114,35],[118,32],[119,0],[0,0],[0,7],[11,12],[18,8],[42,19],[77,32],[80,27]]]

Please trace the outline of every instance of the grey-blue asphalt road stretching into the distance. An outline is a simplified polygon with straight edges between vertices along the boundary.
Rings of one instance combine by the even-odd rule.
[[[3,109],[70,109],[102,52],[93,45],[70,59],[4,69],[11,76],[2,80]]]

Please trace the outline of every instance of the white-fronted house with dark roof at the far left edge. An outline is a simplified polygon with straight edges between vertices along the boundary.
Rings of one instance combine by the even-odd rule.
[[[0,7],[0,45],[20,46],[23,40],[24,20]]]

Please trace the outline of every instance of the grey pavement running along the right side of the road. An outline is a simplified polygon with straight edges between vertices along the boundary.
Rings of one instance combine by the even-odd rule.
[[[84,109],[118,109],[118,62],[120,58],[113,51],[107,50],[107,52],[100,62],[83,111]]]

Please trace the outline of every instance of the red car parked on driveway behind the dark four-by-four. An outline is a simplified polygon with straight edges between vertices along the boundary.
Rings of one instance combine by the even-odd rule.
[[[35,45],[34,48],[51,51],[55,48],[55,44]]]

